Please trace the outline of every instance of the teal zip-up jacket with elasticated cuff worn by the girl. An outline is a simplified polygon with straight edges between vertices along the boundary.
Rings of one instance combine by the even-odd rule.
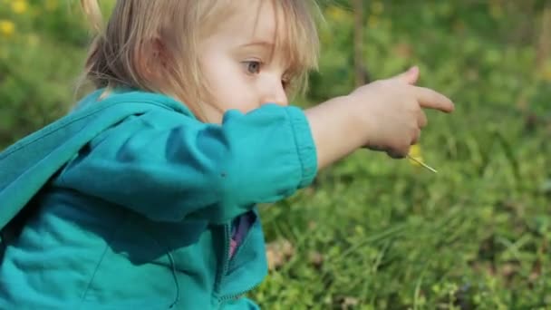
[[[206,124],[167,96],[100,93],[0,153],[0,228],[32,209],[5,241],[0,308],[256,308],[240,297],[267,272],[255,206],[317,169],[304,112],[266,104]]]

